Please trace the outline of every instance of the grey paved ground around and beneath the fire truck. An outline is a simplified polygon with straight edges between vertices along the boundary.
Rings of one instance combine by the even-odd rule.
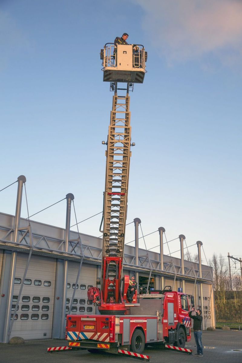
[[[217,363],[242,362],[242,331],[216,330],[202,333],[204,356],[197,357],[176,351],[148,347],[144,354],[151,357],[150,362],[162,361]],[[28,340],[21,345],[0,344],[0,363],[128,363],[134,362],[134,358],[123,355],[113,355],[106,352],[92,354],[87,350],[63,351],[46,353],[47,347],[66,346],[66,340],[45,339]],[[186,344],[186,348],[196,352],[196,344],[192,334],[192,340]]]

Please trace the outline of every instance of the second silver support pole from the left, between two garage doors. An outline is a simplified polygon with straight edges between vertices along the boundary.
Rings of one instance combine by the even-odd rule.
[[[71,201],[74,195],[69,193],[66,195],[66,232],[65,232],[65,252],[68,252],[70,239],[70,219],[71,219]],[[68,261],[63,264],[63,285],[62,285],[62,301],[61,301],[61,323],[60,338],[65,337],[66,326],[66,289],[67,289]]]

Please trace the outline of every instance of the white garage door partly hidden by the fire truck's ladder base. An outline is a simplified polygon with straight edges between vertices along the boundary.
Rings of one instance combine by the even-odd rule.
[[[93,301],[87,299],[87,290],[90,286],[96,286],[97,280],[97,266],[91,264],[82,264],[73,305],[70,311],[70,302],[75,288],[78,268],[78,262],[68,262],[66,314],[95,314]]]

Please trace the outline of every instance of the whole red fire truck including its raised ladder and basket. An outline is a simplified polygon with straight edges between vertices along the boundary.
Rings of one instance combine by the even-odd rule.
[[[143,83],[147,52],[140,44],[107,43],[101,50],[103,81],[114,91],[108,128],[103,203],[102,276],[88,298],[96,315],[67,315],[66,339],[73,349],[142,354],[145,346],[173,344],[184,348],[191,339],[187,296],[182,291],[153,290],[127,299],[129,276],[122,277],[130,170],[130,96],[134,83]],[[121,84],[121,86],[119,86]],[[124,87],[125,84],[125,87]],[[124,91],[124,92],[123,92]],[[120,93],[124,93],[120,95]],[[101,225],[102,225],[101,223]],[[147,314],[148,313],[148,314]]]

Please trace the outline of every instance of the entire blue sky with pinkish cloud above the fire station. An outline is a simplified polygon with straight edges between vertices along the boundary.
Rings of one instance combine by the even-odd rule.
[[[78,222],[102,211],[112,93],[99,53],[127,32],[148,59],[130,97],[125,242],[138,217],[151,233],[141,248],[158,252],[164,227],[167,240],[184,234],[192,255],[202,241],[204,263],[213,253],[242,257],[241,19],[240,0],[1,0],[0,189],[25,175],[29,215],[67,193]],[[16,192],[0,192],[0,212],[15,214]],[[33,220],[65,228],[65,214],[63,200]],[[101,236],[100,222],[79,231]]]

